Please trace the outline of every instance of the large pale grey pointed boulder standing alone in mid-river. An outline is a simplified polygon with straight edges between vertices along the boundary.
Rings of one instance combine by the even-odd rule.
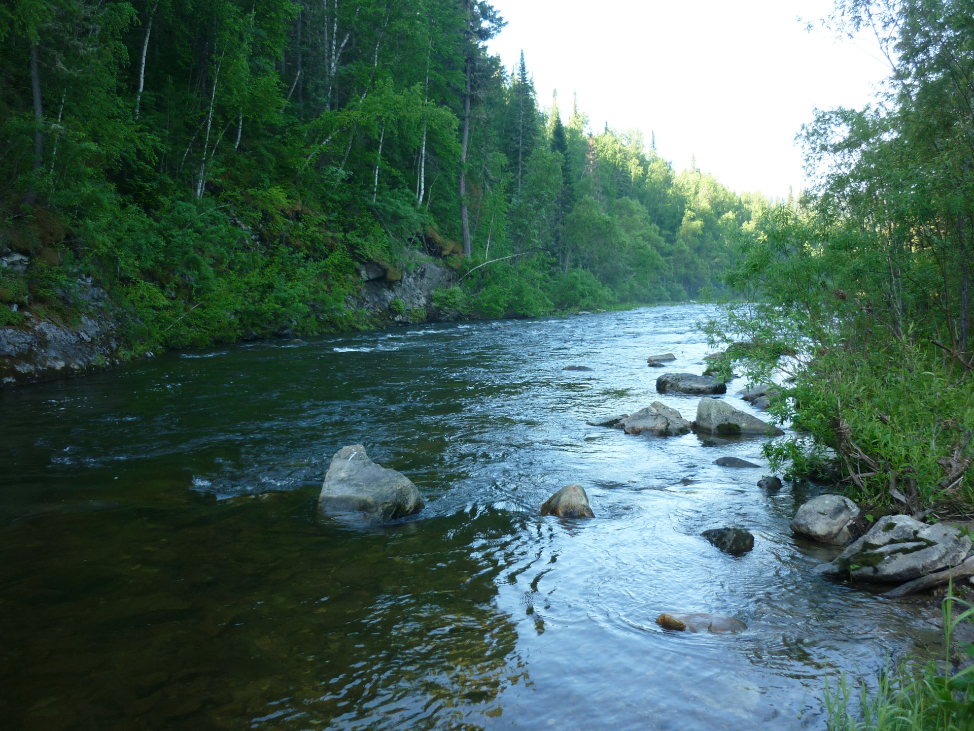
[[[423,496],[405,475],[368,458],[361,444],[345,446],[324,476],[318,510],[371,524],[403,518],[423,509]]]

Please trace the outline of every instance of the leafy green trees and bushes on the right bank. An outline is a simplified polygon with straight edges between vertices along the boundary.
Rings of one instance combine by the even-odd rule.
[[[710,325],[751,342],[734,355],[752,377],[794,379],[772,410],[802,436],[770,456],[915,515],[974,501],[972,18],[968,0],[840,4],[834,20],[871,23],[888,51],[889,92],[805,128],[818,189],[741,237],[727,281],[761,303]]]

